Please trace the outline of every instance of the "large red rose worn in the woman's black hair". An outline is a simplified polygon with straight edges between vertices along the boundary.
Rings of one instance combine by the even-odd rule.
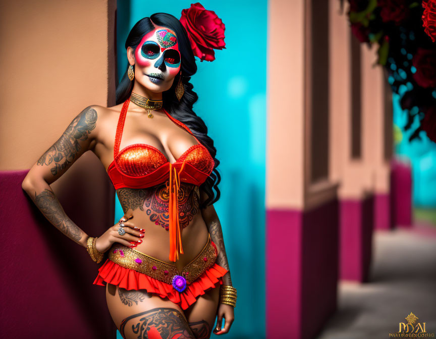
[[[217,17],[215,12],[205,10],[200,3],[191,4],[191,7],[182,10],[179,19],[188,32],[191,47],[200,61],[215,60],[213,49],[226,48],[224,31],[226,26]]]

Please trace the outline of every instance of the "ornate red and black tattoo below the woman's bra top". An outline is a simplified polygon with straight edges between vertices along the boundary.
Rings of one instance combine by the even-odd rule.
[[[127,213],[129,209],[139,208],[141,211],[145,211],[156,225],[161,225],[169,231],[170,196],[166,184],[146,189],[120,188],[117,190],[117,195],[124,213]],[[199,210],[200,191],[198,186],[182,183],[177,198],[179,223],[182,228],[186,228]]]

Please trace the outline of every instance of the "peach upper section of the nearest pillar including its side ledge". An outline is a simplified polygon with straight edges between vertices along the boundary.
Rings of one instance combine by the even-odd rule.
[[[268,50],[280,46],[280,53],[269,53],[267,61],[266,207],[307,210],[333,199],[337,191],[337,183],[328,178],[311,180],[316,97],[312,97],[314,58],[309,37],[317,23],[312,20],[311,1],[268,4]],[[292,67],[283,67],[283,55]]]

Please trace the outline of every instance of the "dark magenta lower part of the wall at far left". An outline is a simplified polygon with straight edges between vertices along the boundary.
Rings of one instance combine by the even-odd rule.
[[[115,338],[116,327],[107,310],[105,290],[92,285],[100,265],[90,259],[84,247],[43,217],[21,189],[26,173],[0,173],[1,336]],[[77,196],[84,191],[81,184],[75,182]],[[76,196],[74,190],[69,193]],[[86,221],[90,217],[85,208],[76,208],[74,213],[70,204],[63,206],[83,230],[101,234],[101,229]]]

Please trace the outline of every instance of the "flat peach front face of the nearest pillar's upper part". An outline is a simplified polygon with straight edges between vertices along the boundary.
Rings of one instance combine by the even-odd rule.
[[[268,2],[266,208],[304,205],[304,3]]]

